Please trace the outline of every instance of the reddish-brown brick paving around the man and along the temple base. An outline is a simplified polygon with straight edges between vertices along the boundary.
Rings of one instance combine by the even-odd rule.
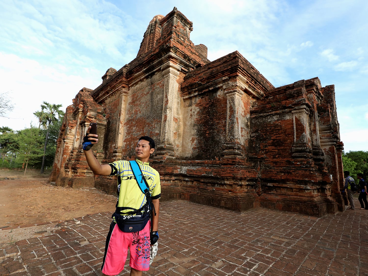
[[[0,248],[0,275],[100,275],[110,216],[78,218]],[[144,275],[368,275],[367,222],[358,208],[316,218],[163,202],[159,255]]]

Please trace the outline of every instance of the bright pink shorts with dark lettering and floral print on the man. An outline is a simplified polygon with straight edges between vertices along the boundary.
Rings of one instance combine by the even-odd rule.
[[[140,271],[149,270],[150,225],[151,222],[148,221],[143,230],[126,233],[121,231],[115,222],[110,224],[110,231],[106,238],[105,256],[101,267],[103,274],[117,275],[123,271],[128,256],[128,248],[130,251],[130,267]]]

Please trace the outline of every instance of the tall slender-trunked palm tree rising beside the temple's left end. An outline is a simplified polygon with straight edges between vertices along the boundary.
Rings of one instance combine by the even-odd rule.
[[[49,139],[50,129],[49,126],[52,125],[55,121],[58,120],[59,117],[64,116],[64,112],[60,110],[62,105],[50,104],[48,102],[43,102],[41,105],[41,111],[36,111],[35,116],[39,118],[39,128],[42,125],[43,128],[47,129],[46,139],[45,139],[45,147],[43,148],[43,158],[40,173],[43,174],[43,169],[45,167],[45,155],[46,155],[46,145],[47,140]],[[58,118],[56,118],[56,115]]]

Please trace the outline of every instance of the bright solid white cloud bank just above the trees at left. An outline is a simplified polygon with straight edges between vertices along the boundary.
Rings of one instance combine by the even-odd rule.
[[[84,86],[96,88],[102,81],[101,73],[93,68],[81,67],[78,75],[61,70],[62,66],[47,66],[38,61],[24,59],[14,54],[0,53],[0,82],[2,91],[9,91],[13,112],[8,118],[0,117],[0,125],[14,130],[29,127],[36,121],[33,112],[40,109],[43,101],[62,104],[61,110],[72,104],[72,99]]]

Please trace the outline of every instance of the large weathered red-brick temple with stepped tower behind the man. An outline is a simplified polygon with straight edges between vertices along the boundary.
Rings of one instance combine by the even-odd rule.
[[[137,57],[110,68],[66,109],[50,182],[116,193],[81,149],[98,123],[101,162],[133,159],[137,139],[156,141],[151,165],[162,200],[243,211],[266,207],[323,216],[344,210],[334,86],[318,78],[275,88],[239,52],[215,61],[190,40],[176,8],[149,23]]]

